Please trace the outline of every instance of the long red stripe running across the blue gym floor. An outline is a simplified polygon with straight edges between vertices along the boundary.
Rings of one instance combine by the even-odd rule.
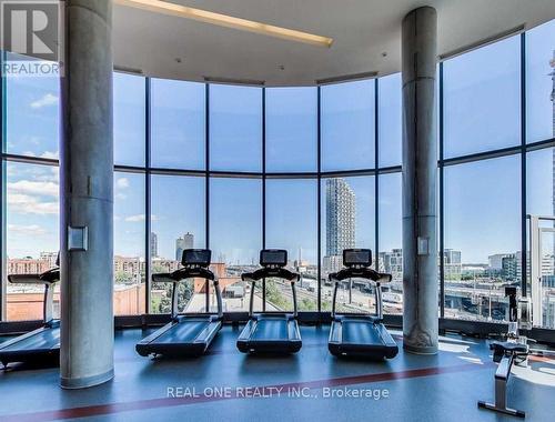
[[[491,363],[486,364],[466,363],[461,365],[452,365],[443,368],[441,366],[422,368],[422,369],[406,370],[400,372],[382,372],[382,373],[332,378],[332,379],[306,381],[306,382],[261,385],[259,386],[259,389],[269,389],[269,391],[270,389],[275,389],[275,388],[282,388],[283,389],[282,391],[287,391],[292,389],[302,389],[302,388],[322,389],[324,386],[333,388],[333,386],[366,384],[380,381],[394,381],[394,380],[403,380],[411,378],[440,375],[445,373],[466,372],[473,370],[488,369],[493,364]],[[2,421],[3,422],[54,421],[54,420],[64,420],[73,418],[99,416],[99,415],[114,414],[114,413],[122,413],[122,412],[130,412],[138,410],[172,408],[172,406],[189,405],[203,402],[216,402],[216,401],[234,400],[234,399],[243,399],[243,398],[232,394],[232,396],[230,398],[200,395],[196,398],[148,399],[148,400],[131,401],[131,402],[107,403],[107,404],[89,405],[82,408],[69,408],[69,409],[60,409],[60,410],[34,412],[34,413],[11,414],[2,416]]]

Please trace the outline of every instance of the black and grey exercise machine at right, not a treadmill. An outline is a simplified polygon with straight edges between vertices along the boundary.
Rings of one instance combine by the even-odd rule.
[[[493,361],[498,363],[495,371],[495,402],[478,401],[478,408],[493,410],[513,416],[525,418],[521,410],[507,408],[507,383],[513,364],[526,362],[529,353],[527,339],[519,335],[518,330],[529,330],[531,307],[526,298],[516,299],[516,288],[506,287],[508,297],[508,332],[506,341],[494,341],[490,344]]]

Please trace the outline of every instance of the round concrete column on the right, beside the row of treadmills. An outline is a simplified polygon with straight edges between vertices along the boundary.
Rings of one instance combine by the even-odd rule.
[[[403,344],[437,352],[436,89],[437,14],[403,19]]]

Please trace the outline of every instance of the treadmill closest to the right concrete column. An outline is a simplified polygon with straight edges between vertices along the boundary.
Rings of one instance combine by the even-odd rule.
[[[381,283],[390,282],[391,274],[382,274],[372,269],[372,251],[370,249],[345,249],[343,251],[343,270],[331,273],[330,281],[335,280],[332,305],[332,328],[327,348],[335,356],[360,356],[372,360],[395,358],[398,346],[385,329],[382,315]],[[337,314],[337,289],[344,280],[352,278],[369,280],[375,284],[376,314]],[[352,285],[350,287],[352,289]]]

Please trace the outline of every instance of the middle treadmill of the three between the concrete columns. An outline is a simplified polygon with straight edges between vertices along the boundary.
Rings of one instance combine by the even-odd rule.
[[[287,251],[265,249],[260,251],[261,269],[241,274],[243,281],[251,281],[251,303],[249,322],[238,339],[238,349],[243,353],[296,353],[302,341],[296,312],[295,282],[300,275],[286,270]],[[293,313],[253,313],[254,287],[256,281],[276,277],[291,282],[293,292]]]

